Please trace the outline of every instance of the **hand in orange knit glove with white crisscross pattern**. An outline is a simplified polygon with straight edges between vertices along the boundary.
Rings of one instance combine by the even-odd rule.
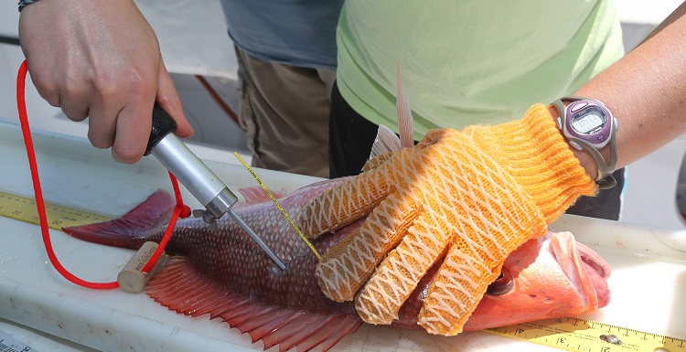
[[[316,238],[370,213],[319,262],[319,286],[334,301],[355,298],[364,321],[391,324],[423,274],[443,261],[419,316],[440,335],[462,331],[511,251],[596,191],[541,104],[511,123],[434,130],[368,165],[300,219]]]

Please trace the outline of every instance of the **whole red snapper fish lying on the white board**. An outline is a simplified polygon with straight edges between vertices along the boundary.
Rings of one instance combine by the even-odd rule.
[[[343,179],[322,181],[281,197],[279,203],[294,217],[316,196]],[[209,314],[242,333],[262,340],[264,349],[279,345],[324,351],[363,322],[354,305],[327,299],[316,283],[316,256],[299,238],[280,210],[259,187],[242,188],[247,202],[234,208],[274,253],[284,261],[281,271],[229,217],[210,229],[202,219],[180,219],[166,252],[167,260],[146,287],[156,302],[184,315]],[[130,249],[162,238],[174,208],[163,191],[120,219],[65,228],[81,240]],[[364,218],[336,230],[313,244],[325,253],[359,229]],[[438,268],[440,262],[434,265]],[[435,269],[417,285],[392,328],[417,329],[417,315]],[[569,232],[530,240],[512,252],[502,275],[488,288],[465,330],[581,315],[608,304],[609,265],[595,251],[576,242]]]

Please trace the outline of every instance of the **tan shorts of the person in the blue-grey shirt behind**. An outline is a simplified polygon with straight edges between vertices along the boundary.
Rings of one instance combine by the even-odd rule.
[[[336,72],[255,59],[236,48],[239,122],[252,166],[328,177],[328,112]]]

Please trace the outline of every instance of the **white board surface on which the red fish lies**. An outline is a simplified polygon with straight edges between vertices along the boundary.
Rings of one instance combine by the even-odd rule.
[[[49,202],[116,217],[158,188],[171,192],[166,170],[151,157],[136,165],[121,165],[112,161],[109,151],[97,150],[85,139],[35,132],[34,140]],[[236,163],[233,155],[228,154],[227,160],[208,165],[234,192],[241,186],[256,185],[241,165],[231,164]],[[33,197],[21,134],[11,123],[0,123],[0,163],[0,191]],[[256,172],[273,189],[293,191],[318,180],[261,169]],[[191,208],[198,206],[188,192],[184,196]],[[612,302],[584,318],[686,338],[686,252],[682,251],[686,234],[573,216],[563,216],[553,227],[571,230],[614,269],[609,280]],[[113,281],[132,256],[132,251],[71,239],[58,230],[50,230],[50,234],[59,260],[86,280]],[[263,349],[261,342],[252,344],[250,336],[224,323],[206,316],[177,315],[145,294],[93,291],[69,283],[49,263],[38,226],[2,217],[0,318],[104,351]],[[552,349],[483,332],[445,337],[364,325],[332,350]]]

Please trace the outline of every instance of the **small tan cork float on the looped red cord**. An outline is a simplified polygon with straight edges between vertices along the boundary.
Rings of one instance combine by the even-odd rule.
[[[122,272],[117,275],[117,283],[119,287],[127,293],[142,293],[145,285],[152,279],[153,275],[162,266],[165,261],[165,255],[160,255],[155,265],[150,272],[142,272],[145,263],[150,260],[157,250],[158,244],[155,242],[145,242],[141,248],[136,251],[134,257],[131,258],[126,266],[123,267]]]

